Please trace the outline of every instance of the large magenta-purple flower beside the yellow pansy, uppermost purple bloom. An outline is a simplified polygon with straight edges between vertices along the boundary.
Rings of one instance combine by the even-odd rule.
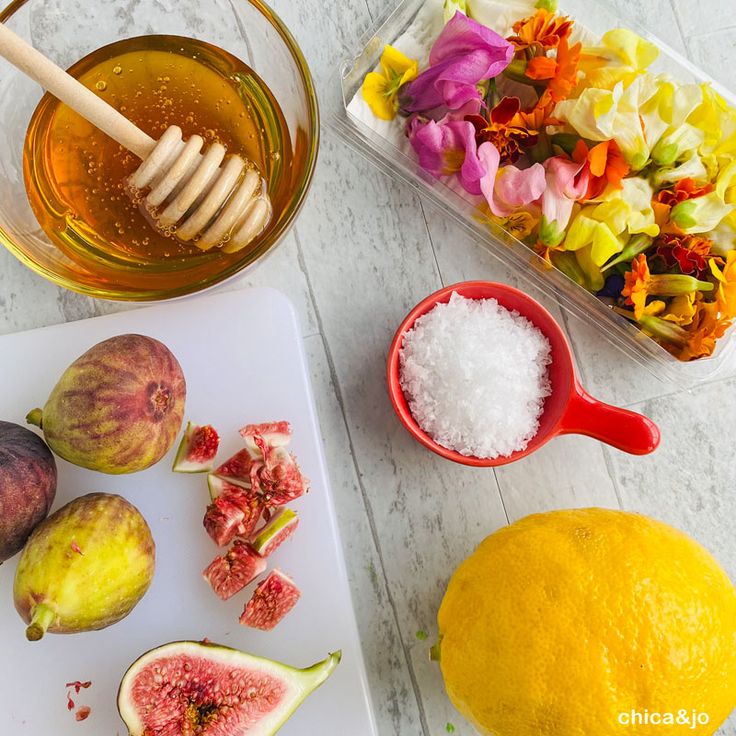
[[[446,105],[457,110],[478,100],[478,83],[498,76],[513,55],[513,45],[495,31],[455,13],[432,47],[429,69],[403,88],[401,109],[426,112]]]

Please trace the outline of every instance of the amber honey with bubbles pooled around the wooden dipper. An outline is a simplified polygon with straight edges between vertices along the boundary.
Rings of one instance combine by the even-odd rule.
[[[69,72],[155,139],[178,125],[185,139],[196,133],[250,159],[274,212],[283,209],[295,152],[278,102],[244,62],[202,41],[143,36],[98,49]],[[56,98],[39,103],[24,148],[26,190],[44,232],[74,264],[116,283],[144,269],[166,288],[167,274],[175,283],[177,271],[194,269],[205,280],[223,259],[243,257],[203,253],[157,229],[127,186],[140,163]],[[248,246],[257,247],[258,239]]]

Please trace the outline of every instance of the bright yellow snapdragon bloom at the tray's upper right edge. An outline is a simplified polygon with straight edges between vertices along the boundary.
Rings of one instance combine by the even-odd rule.
[[[613,89],[630,84],[659,56],[659,49],[632,31],[615,28],[603,34],[600,46],[587,47],[580,55],[585,86]]]

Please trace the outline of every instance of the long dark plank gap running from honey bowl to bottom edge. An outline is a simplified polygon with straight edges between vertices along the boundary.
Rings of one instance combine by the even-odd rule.
[[[320,311],[317,306],[317,301],[314,296],[314,289],[312,287],[312,281],[307,271],[306,261],[304,260],[304,251],[302,249],[301,239],[299,238],[299,233],[296,227],[294,228],[294,239],[296,240],[297,259],[299,262],[299,268],[304,273],[304,277],[307,282],[307,289],[309,291],[309,298],[312,301],[312,304],[314,306],[315,318],[317,320],[317,327],[319,329],[318,334],[320,335],[322,339],[322,345],[325,351],[325,357],[327,359],[327,367],[330,372],[330,382],[332,383],[333,389],[335,391],[335,397],[340,407],[340,413],[342,414],[343,423],[345,426],[345,433],[348,438],[348,446],[350,448],[350,457],[353,463],[353,470],[355,472],[356,482],[358,484],[358,488],[360,489],[360,495],[363,498],[363,506],[365,508],[366,518],[368,519],[368,526],[371,530],[371,537],[373,539],[373,545],[376,549],[376,557],[378,558],[378,564],[380,565],[381,575],[383,576],[383,581],[386,586],[386,597],[388,598],[388,603],[391,608],[391,614],[394,620],[394,624],[396,625],[396,634],[401,644],[401,651],[404,653],[404,660],[406,661],[406,667],[409,673],[409,679],[411,680],[411,686],[414,692],[414,699],[416,700],[416,703],[417,703],[417,710],[419,711],[419,720],[422,726],[422,731],[424,732],[425,736],[430,736],[429,726],[427,724],[427,716],[424,712],[424,703],[422,702],[422,698],[420,694],[419,682],[417,681],[416,673],[414,672],[414,667],[411,661],[411,657],[409,655],[409,649],[407,647],[406,642],[404,641],[404,635],[402,633],[401,623],[399,620],[398,607],[396,605],[396,601],[394,599],[393,593],[391,592],[391,586],[389,585],[388,576],[386,575],[386,563],[384,561],[383,550],[381,549],[381,545],[379,542],[378,525],[376,524],[376,519],[375,519],[375,516],[373,515],[373,507],[371,505],[370,499],[368,498],[368,492],[363,483],[363,476],[360,471],[360,466],[358,465],[358,458],[357,458],[357,454],[355,451],[355,443],[353,442],[353,436],[352,436],[352,433],[350,432],[350,425],[347,419],[347,412],[345,411],[345,402],[343,400],[342,390],[340,389],[340,382],[339,382],[339,378],[337,375],[337,369],[335,367],[335,361],[332,357],[332,351],[330,349],[329,342],[327,340],[327,337],[325,336],[324,325],[322,323],[322,317],[320,315]]]

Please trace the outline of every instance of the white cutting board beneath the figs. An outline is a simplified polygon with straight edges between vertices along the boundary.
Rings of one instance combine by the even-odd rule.
[[[280,736],[375,736],[307,364],[290,302],[272,289],[249,289],[0,337],[0,419],[24,424],[26,413],[44,404],[72,360],[126,332],[155,337],[177,356],[187,379],[186,417],[217,428],[222,437],[218,459],[242,448],[242,425],[291,422],[292,449],[312,490],[293,504],[299,528],[274,553],[271,566],[294,578],[302,598],[272,632],[238,624],[253,586],[248,595],[225,603],[202,579],[201,571],[219,553],[202,527],[206,476],[172,473],[173,452],[153,468],[128,476],[103,475],[59,460],[54,509],[91,491],[125,496],[153,531],[156,575],[122,622],[30,643],[12,600],[18,556],[0,565],[0,734],[127,736],[115,701],[128,665],[160,644],[208,637],[299,667],[342,649],[342,663],[331,679]],[[77,705],[92,708],[84,722],[66,708],[65,683],[73,680],[92,680],[89,690],[72,696]]]

